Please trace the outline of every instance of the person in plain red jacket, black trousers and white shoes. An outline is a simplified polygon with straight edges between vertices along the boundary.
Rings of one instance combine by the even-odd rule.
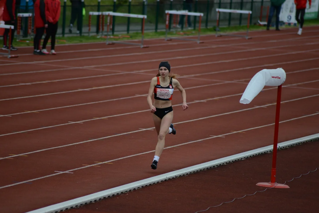
[[[46,47],[51,37],[51,54],[56,54],[54,51],[56,44],[56,32],[58,30],[58,21],[60,18],[61,2],[60,0],[45,0],[45,15],[48,20],[48,28],[42,45],[42,52],[49,54]]]

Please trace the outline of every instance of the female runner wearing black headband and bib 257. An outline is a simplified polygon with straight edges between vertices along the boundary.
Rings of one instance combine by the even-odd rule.
[[[167,61],[162,61],[159,64],[159,73],[151,80],[150,89],[147,95],[147,103],[151,108],[151,113],[153,113],[154,125],[158,135],[155,156],[151,165],[152,169],[157,169],[159,156],[164,149],[166,134],[176,134],[176,130],[172,124],[172,97],[175,87],[181,91],[183,98],[183,110],[188,109],[186,104],[186,92],[178,80],[176,80],[177,75],[170,72],[170,64]],[[152,104],[153,92],[155,101]]]

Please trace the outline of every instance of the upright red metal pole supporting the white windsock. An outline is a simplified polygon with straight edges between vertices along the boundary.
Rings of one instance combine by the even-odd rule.
[[[275,134],[274,134],[274,146],[273,146],[272,166],[271,166],[271,183],[276,182],[276,159],[277,159],[280,100],[281,100],[281,85],[278,86],[278,91],[277,91]]]

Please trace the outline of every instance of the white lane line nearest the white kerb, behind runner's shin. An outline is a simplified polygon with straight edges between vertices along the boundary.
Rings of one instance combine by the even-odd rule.
[[[285,122],[288,122],[288,121],[293,121],[293,120],[297,120],[297,119],[301,119],[301,118],[307,118],[307,117],[315,116],[315,115],[318,115],[318,114],[319,114],[319,113],[313,113],[313,114],[310,114],[310,115],[305,115],[305,116],[301,116],[301,117],[297,117],[297,118],[292,118],[292,119],[280,121],[279,123],[285,123]],[[267,126],[272,126],[272,125],[275,125],[275,124],[272,123],[272,124],[267,124],[267,125],[263,125],[263,126],[256,126],[256,127],[252,127],[252,128],[249,128],[249,129],[243,129],[243,130],[240,130],[240,131],[236,131],[236,132],[221,134],[221,135],[212,136],[212,137],[209,137],[209,138],[203,138],[203,139],[199,139],[199,140],[196,140],[196,141],[189,141],[189,142],[186,142],[186,143],[181,143],[181,144],[178,144],[178,145],[165,147],[164,149],[174,148],[174,147],[183,146],[183,145],[186,145],[186,144],[195,143],[195,142],[200,142],[200,141],[206,141],[206,140],[213,139],[213,138],[216,138],[216,137],[222,137],[222,136],[226,136],[226,135],[230,135],[230,134],[235,134],[235,133],[239,133],[239,132],[244,132],[244,131],[259,129],[259,128],[263,128],[263,127],[267,127]],[[80,170],[80,169],[85,169],[85,168],[88,168],[88,167],[97,166],[97,165],[105,164],[105,163],[110,163],[110,162],[114,162],[114,161],[118,161],[118,160],[130,158],[130,157],[134,157],[134,156],[144,155],[144,154],[148,154],[148,153],[152,153],[152,152],[155,152],[155,150],[148,151],[148,152],[143,152],[143,153],[138,153],[138,154],[134,154],[134,155],[130,155],[130,156],[125,156],[125,157],[120,157],[120,158],[117,158],[117,159],[108,160],[108,161],[104,161],[104,162],[97,163],[97,164],[82,166],[82,167],[79,167],[79,168],[70,169],[70,170],[65,171],[65,172],[77,171],[77,170]],[[63,173],[64,173],[64,172],[63,172]],[[6,187],[10,187],[10,186],[19,185],[19,184],[23,184],[23,183],[26,183],[26,182],[31,182],[31,181],[39,180],[39,179],[44,179],[44,178],[52,177],[52,176],[55,176],[55,175],[58,175],[58,174],[63,174],[63,173],[54,173],[54,174],[47,175],[47,176],[43,176],[43,177],[40,177],[40,178],[30,179],[30,180],[22,181],[22,182],[15,183],[15,184],[10,184],[10,185],[6,185],[6,186],[1,186],[0,189],[6,188]]]

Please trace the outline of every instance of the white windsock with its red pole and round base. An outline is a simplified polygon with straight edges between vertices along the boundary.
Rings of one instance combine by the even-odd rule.
[[[275,135],[272,154],[271,166],[271,182],[257,183],[257,186],[271,187],[271,188],[289,188],[285,184],[276,183],[276,158],[277,158],[277,144],[278,144],[278,128],[279,128],[279,112],[281,100],[281,85],[286,81],[286,72],[282,68],[277,69],[263,69],[257,72],[249,81],[244,93],[241,96],[239,103],[250,103],[263,89],[264,86],[278,87],[277,104],[276,104],[276,118],[275,118]]]

